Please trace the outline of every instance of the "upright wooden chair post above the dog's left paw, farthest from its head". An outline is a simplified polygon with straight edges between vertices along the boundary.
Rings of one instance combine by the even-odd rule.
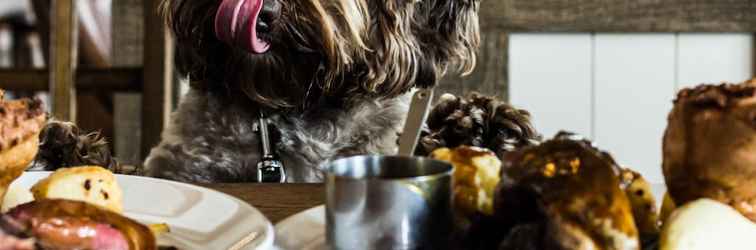
[[[78,0],[52,1],[50,18],[50,92],[53,117],[76,122],[76,64]]]

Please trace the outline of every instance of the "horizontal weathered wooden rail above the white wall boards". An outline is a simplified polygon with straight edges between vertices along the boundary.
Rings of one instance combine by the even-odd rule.
[[[510,32],[756,32],[752,0],[484,1],[482,25]]]

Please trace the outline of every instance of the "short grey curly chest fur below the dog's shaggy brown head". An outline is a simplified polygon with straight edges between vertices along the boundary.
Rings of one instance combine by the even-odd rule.
[[[321,106],[302,114],[272,115],[280,133],[275,148],[288,181],[320,182],[321,163],[337,157],[394,153],[408,96],[365,101],[347,110]],[[146,160],[147,174],[196,183],[254,181],[261,149],[253,110],[190,91]]]

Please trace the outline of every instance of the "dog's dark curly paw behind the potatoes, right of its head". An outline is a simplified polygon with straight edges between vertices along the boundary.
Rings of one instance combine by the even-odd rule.
[[[445,94],[428,115],[415,154],[470,145],[488,148],[501,157],[540,139],[525,110],[476,93],[467,98]]]

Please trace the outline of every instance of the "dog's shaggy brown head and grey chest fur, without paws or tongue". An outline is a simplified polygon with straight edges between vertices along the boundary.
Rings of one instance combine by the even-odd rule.
[[[148,157],[149,175],[254,181],[262,110],[289,181],[321,181],[327,160],[394,153],[408,92],[449,67],[474,68],[480,0],[265,1],[282,8],[264,54],[215,36],[220,1],[164,1],[192,90]]]

